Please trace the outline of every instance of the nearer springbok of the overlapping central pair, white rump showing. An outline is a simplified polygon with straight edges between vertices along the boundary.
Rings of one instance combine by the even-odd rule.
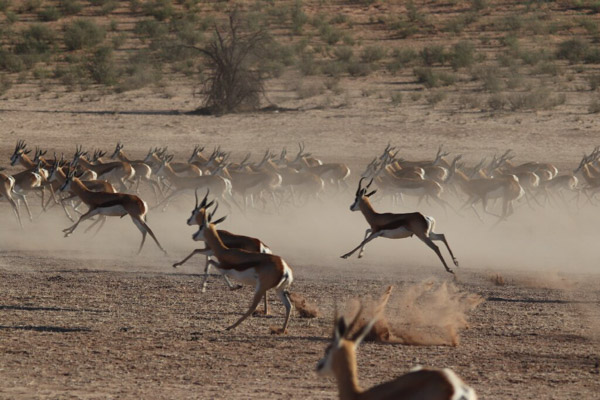
[[[227,330],[235,328],[252,315],[260,300],[266,296],[267,291],[274,289],[285,306],[285,321],[282,329],[276,333],[286,333],[293,309],[288,292],[288,288],[294,280],[292,269],[279,256],[227,247],[216,228],[216,225],[225,217],[211,222],[213,215],[214,212],[204,213],[204,220],[193,236],[194,240],[202,240],[207,245],[205,249],[196,251],[202,254],[213,254],[218,262],[210,260],[209,264],[215,266],[222,274],[227,274],[242,283],[256,285],[250,308]]]

